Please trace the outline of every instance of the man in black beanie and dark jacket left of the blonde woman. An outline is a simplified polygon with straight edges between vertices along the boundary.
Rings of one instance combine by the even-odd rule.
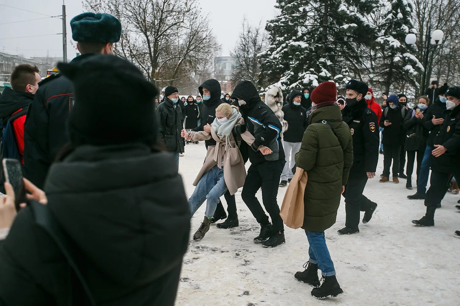
[[[160,136],[167,150],[174,153],[179,167],[179,155],[184,153],[184,140],[180,135],[184,128],[184,117],[182,108],[179,105],[182,102],[178,102],[178,92],[178,89],[174,86],[168,86],[165,89],[165,100],[158,106],[156,116]]]

